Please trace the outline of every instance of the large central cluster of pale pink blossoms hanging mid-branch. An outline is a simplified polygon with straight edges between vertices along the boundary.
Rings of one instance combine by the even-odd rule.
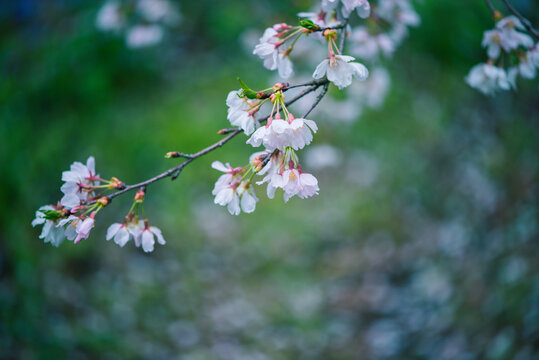
[[[241,126],[246,134],[251,135],[247,144],[265,148],[252,154],[249,163],[243,167],[232,167],[220,161],[212,164],[214,169],[224,173],[215,183],[212,192],[214,202],[226,206],[232,215],[255,210],[258,197],[254,184],[267,184],[269,198],[275,196],[277,189],[282,189],[285,201],[293,196],[304,199],[318,194],[318,181],[302,170],[296,153],[311,143],[318,127],[313,120],[296,118],[288,110],[283,93],[285,86],[276,84],[268,97],[261,96],[265,97],[264,100],[249,100],[245,89],[231,91],[227,97],[231,124]],[[254,113],[266,102],[272,104],[271,113],[266,124],[254,131],[254,127],[259,125]],[[238,119],[244,119],[249,127],[242,126],[244,122]],[[255,182],[255,176],[264,177]]]

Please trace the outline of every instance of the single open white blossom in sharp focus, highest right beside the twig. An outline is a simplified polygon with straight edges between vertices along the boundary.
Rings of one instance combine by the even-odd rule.
[[[347,55],[330,55],[329,58],[322,60],[313,73],[313,78],[320,79],[324,75],[328,80],[335,84],[339,89],[343,89],[352,83],[352,78],[356,77],[363,81],[369,76],[369,71],[365,65],[352,62],[355,60]]]

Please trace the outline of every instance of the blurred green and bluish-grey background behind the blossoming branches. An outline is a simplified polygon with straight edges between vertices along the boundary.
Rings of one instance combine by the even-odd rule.
[[[320,196],[214,206],[209,165],[243,163],[237,139],[149,188],[154,253],[104,240],[125,198],[77,246],[38,239],[72,161],[133,183],[216,141],[236,76],[271,76],[242,33],[310,3],[181,1],[176,32],[138,51],[95,29],[96,2],[2,4],[0,358],[539,358],[539,96],[464,83],[492,25],[481,1],[418,2],[383,109],[316,119],[342,154],[315,172]]]

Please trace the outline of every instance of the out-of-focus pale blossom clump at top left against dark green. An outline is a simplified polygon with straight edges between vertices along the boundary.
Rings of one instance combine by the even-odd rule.
[[[99,10],[96,26],[101,31],[125,36],[130,48],[161,42],[165,29],[180,21],[176,6],[168,0],[108,0]]]

